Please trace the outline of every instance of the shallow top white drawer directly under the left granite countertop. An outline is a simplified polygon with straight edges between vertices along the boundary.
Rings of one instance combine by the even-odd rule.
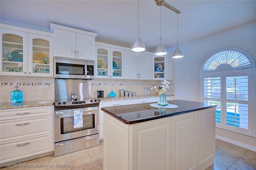
[[[0,112],[0,120],[3,121],[44,115],[53,115],[53,106],[4,109]]]

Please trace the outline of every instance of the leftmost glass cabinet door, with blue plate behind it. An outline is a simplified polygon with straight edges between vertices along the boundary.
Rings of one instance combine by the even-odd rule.
[[[27,33],[1,29],[1,74],[23,75],[27,72]],[[24,45],[25,44],[25,45]],[[24,73],[23,73],[24,72]]]

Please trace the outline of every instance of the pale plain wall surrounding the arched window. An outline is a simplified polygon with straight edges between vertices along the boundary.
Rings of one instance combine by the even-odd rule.
[[[200,101],[202,63],[214,51],[223,48],[242,49],[256,61],[256,20],[180,45],[184,57],[174,61],[175,99]]]

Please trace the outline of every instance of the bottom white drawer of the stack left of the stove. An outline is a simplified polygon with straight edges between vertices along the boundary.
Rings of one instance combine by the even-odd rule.
[[[0,143],[0,163],[53,151],[53,134]]]

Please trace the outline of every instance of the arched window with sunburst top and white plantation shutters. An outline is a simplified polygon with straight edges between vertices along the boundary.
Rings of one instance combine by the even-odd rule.
[[[201,101],[216,107],[216,127],[252,136],[253,58],[241,49],[221,49],[201,67]]]

